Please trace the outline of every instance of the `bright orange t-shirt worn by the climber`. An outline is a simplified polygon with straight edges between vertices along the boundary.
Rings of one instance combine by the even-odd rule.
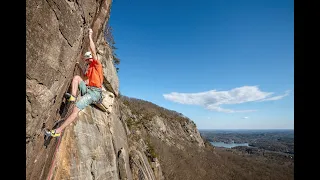
[[[93,61],[89,64],[86,76],[89,79],[89,86],[101,88],[103,83],[103,71],[101,63],[96,59],[93,59]]]

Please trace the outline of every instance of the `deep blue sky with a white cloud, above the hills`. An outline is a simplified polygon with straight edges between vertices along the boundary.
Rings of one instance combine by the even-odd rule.
[[[293,129],[292,0],[113,0],[120,92],[198,129]]]

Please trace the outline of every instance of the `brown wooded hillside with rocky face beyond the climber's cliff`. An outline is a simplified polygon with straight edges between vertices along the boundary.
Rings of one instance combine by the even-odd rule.
[[[149,157],[157,157],[165,179],[293,179],[291,159],[214,148],[179,112],[127,96],[120,102],[129,144],[147,142]]]

